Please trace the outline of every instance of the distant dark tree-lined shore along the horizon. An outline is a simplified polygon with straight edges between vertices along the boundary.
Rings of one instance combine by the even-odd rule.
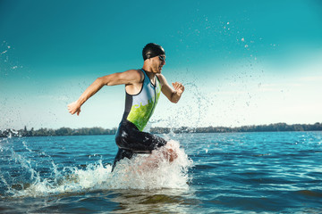
[[[19,137],[19,136],[101,136],[115,135],[117,128],[40,128],[28,130],[26,127],[20,130],[12,128],[0,130],[0,137]],[[252,125],[238,128],[227,127],[206,127],[206,128],[150,128],[153,134],[174,133],[234,133],[234,132],[283,132],[283,131],[322,131],[322,123],[315,124],[292,124],[275,123],[269,125]]]

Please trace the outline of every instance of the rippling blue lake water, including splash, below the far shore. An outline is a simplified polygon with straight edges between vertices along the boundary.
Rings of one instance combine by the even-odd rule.
[[[0,212],[322,213],[322,132],[163,137],[114,172],[114,136],[2,138]]]

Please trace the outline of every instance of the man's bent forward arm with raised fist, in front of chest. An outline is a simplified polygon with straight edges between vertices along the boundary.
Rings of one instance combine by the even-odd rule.
[[[167,83],[165,76],[162,74],[158,74],[157,78],[159,78],[160,83],[161,83],[161,91],[162,93],[171,101],[172,103],[178,103],[180,100],[182,93],[184,91],[184,86],[181,83],[175,82],[172,85],[174,88],[169,86]]]

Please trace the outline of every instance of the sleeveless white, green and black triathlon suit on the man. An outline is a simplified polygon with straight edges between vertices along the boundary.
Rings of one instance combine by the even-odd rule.
[[[161,94],[161,84],[156,76],[155,85],[148,78],[145,70],[144,80],[138,95],[126,93],[123,119],[117,129],[115,142],[119,150],[114,159],[113,169],[117,161],[131,159],[135,153],[149,153],[166,144],[165,139],[143,132],[152,116],[157,100]]]

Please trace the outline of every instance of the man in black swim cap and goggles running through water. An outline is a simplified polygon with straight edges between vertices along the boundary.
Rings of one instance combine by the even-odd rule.
[[[143,132],[143,129],[156,108],[161,92],[172,103],[177,103],[184,91],[181,83],[173,83],[174,88],[169,86],[161,74],[162,67],[165,65],[165,50],[162,46],[149,43],[143,48],[142,55],[144,60],[142,69],[127,70],[97,78],[80,95],[78,101],[68,105],[70,113],[80,115],[80,106],[103,86],[125,85],[125,110],[115,136],[119,149],[114,159],[113,169],[116,162],[123,158],[131,159],[135,153],[151,153],[166,144],[165,139]],[[168,149],[165,156],[169,161],[174,161],[177,154],[172,149]]]

